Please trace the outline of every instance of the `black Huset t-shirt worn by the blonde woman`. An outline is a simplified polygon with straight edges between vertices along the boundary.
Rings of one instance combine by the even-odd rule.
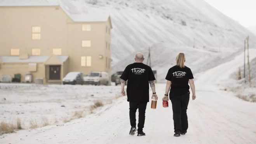
[[[174,66],[169,69],[166,80],[172,82],[170,90],[171,97],[179,97],[183,94],[189,93],[188,80],[193,79],[193,74],[190,68],[180,68],[179,66]]]

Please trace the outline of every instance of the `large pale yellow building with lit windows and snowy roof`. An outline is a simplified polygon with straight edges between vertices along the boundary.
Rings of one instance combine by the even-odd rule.
[[[111,19],[57,0],[0,1],[0,78],[26,73],[61,83],[71,71],[111,75]]]

